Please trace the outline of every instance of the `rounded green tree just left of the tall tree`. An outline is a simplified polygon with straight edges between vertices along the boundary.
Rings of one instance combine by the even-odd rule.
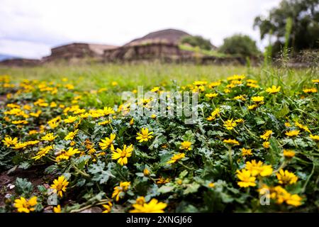
[[[230,55],[240,55],[242,57],[253,57],[260,53],[256,42],[252,40],[250,36],[241,34],[235,34],[225,38],[219,51]]]

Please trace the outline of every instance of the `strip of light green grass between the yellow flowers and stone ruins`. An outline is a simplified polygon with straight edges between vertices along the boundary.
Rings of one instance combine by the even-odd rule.
[[[234,65],[160,65],[157,63],[139,65],[47,65],[43,67],[0,67],[0,74],[8,74],[16,81],[23,79],[38,79],[57,81],[66,77],[77,89],[89,91],[92,89],[110,88],[112,82],[117,82],[120,89],[110,89],[100,95],[102,105],[118,104],[118,92],[132,91],[138,86],[151,89],[164,85],[172,87],[192,83],[196,80],[215,81],[225,79],[233,74],[245,74],[251,79],[257,79],[264,86],[279,84],[284,91],[302,89],[311,84],[311,79],[318,75],[318,69],[287,69],[275,67],[245,67]]]

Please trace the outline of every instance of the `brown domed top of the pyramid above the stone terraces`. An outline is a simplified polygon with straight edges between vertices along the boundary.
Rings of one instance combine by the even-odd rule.
[[[186,35],[189,35],[189,33],[177,29],[165,29],[149,33],[142,38],[136,38],[135,40],[130,41],[130,43],[127,43],[124,46],[140,45],[145,43],[171,43],[178,45],[179,40]]]

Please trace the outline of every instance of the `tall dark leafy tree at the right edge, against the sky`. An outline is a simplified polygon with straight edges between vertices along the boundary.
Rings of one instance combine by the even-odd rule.
[[[298,52],[319,48],[319,0],[283,0],[267,17],[254,18],[254,28],[259,28],[260,38],[275,39],[274,53],[288,47]],[[291,20],[291,33],[285,40],[286,23]]]

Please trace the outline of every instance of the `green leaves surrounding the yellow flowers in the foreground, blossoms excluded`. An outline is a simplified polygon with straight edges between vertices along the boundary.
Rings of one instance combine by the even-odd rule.
[[[120,70],[116,65],[109,67],[113,67],[113,72]],[[63,196],[57,198],[57,202],[65,212],[79,212],[91,206],[102,208],[101,205],[108,204],[108,201],[113,203],[112,212],[127,212],[133,209],[132,204],[135,204],[140,196],[145,197],[145,202],[158,199],[168,205],[165,211],[172,212],[285,212],[318,209],[319,189],[316,184],[319,173],[318,143],[310,138],[310,135],[318,135],[319,99],[318,92],[303,91],[310,87],[318,89],[318,83],[312,82],[312,79],[316,79],[316,71],[311,69],[283,71],[272,67],[260,70],[251,67],[250,74],[245,78],[234,75],[225,79],[225,74],[228,73],[223,71],[225,68],[198,67],[196,70],[196,67],[185,65],[165,65],[164,67],[162,71],[151,74],[157,75],[157,78],[145,80],[147,85],[145,87],[148,89],[159,86],[161,92],[169,91],[171,94],[199,91],[198,104],[196,104],[198,118],[195,124],[186,124],[184,116],[136,116],[130,112],[125,114],[119,111],[123,109],[123,106],[119,106],[125,104],[123,102],[113,106],[113,114],[94,116],[94,113],[103,111],[106,107],[104,104],[108,103],[107,100],[103,100],[103,104],[90,101],[99,96],[99,92],[96,92],[101,88],[99,85],[107,84],[107,92],[114,96],[121,96],[121,92],[133,89],[134,81],[142,84],[140,79],[145,79],[143,75],[133,79],[127,76],[130,73],[146,73],[141,70],[142,66],[122,67],[121,73],[126,76],[118,79],[117,82],[123,84],[123,87],[112,85],[111,82],[116,79],[108,75],[111,72],[107,71],[110,70],[109,68],[104,68],[106,71],[101,70],[103,67],[98,67],[96,71],[92,69],[92,74],[86,74],[92,77],[87,76],[84,81],[74,82],[74,89],[71,91],[65,85],[72,80],[75,81],[77,73],[71,73],[69,70],[64,71],[67,72],[69,79],[67,82],[57,76],[50,78],[52,80],[49,82],[45,79],[45,74],[40,73],[43,71],[37,71],[41,70],[39,68],[26,69],[27,72],[38,72],[37,81],[30,79],[21,84],[20,79],[28,77],[23,77],[19,73],[17,77],[5,77],[6,83],[13,84],[14,87],[0,83],[1,94],[11,94],[4,96],[6,98],[0,110],[0,115],[4,116],[0,121],[1,140],[8,135],[12,138],[16,137],[21,143],[34,140],[40,142],[35,145],[29,144],[22,149],[15,149],[13,145],[1,146],[0,154],[6,154],[3,158],[6,161],[4,167],[8,170],[14,165],[11,172],[14,172],[16,168],[46,167],[44,173],[52,175],[54,179],[64,176],[69,184]],[[233,68],[230,67],[230,69]],[[79,72],[81,70],[80,68]],[[240,67],[237,70],[245,71]],[[100,78],[97,72],[105,74],[106,77]],[[192,76],[185,78],[189,81],[169,82],[167,72],[174,72],[173,75],[177,79],[181,78],[179,77],[181,72],[187,75],[192,74]],[[198,78],[202,78],[202,81],[194,83],[194,80]],[[127,84],[124,82],[125,79]],[[251,79],[257,79],[255,86],[253,85],[255,82]],[[92,80],[98,81],[97,84],[89,84]],[[162,82],[167,83],[162,84]],[[41,91],[43,84],[45,89]],[[89,85],[86,87],[85,84]],[[281,86],[280,91],[269,94],[266,89],[272,85]],[[57,88],[57,94],[52,94],[51,91],[54,88]],[[213,98],[206,96],[213,93],[217,96]],[[240,101],[235,99],[240,95],[245,99]],[[264,96],[264,103],[250,109],[250,106],[254,104],[252,96]],[[36,104],[38,99],[43,99],[48,105],[38,106]],[[57,106],[51,106],[53,101]],[[138,105],[139,99],[134,99],[132,102]],[[12,104],[19,105],[19,109],[23,109],[28,116],[8,114],[8,111],[13,108]],[[30,106],[30,109],[26,104]],[[177,107],[169,100],[164,101],[164,104],[170,109]],[[150,106],[143,106],[143,108],[152,109]],[[220,109],[220,114],[214,120],[208,121],[208,116],[216,108]],[[30,115],[39,110],[42,111],[40,116]],[[84,110],[88,115],[77,113],[79,110]],[[58,116],[61,118],[59,125],[51,128],[48,121]],[[67,116],[78,118],[74,123],[66,123]],[[28,123],[23,125],[12,123],[13,120],[23,118],[27,118]],[[233,129],[225,128],[225,121],[231,119],[233,121],[242,119],[242,121],[238,121]],[[110,122],[101,124],[106,120]],[[311,134],[299,128],[296,121],[303,126],[308,126]],[[153,136],[142,143],[136,139],[141,128],[148,128]],[[30,135],[30,131],[34,130],[36,133]],[[65,139],[69,132],[76,130],[78,131],[72,142]],[[260,138],[260,135],[267,130],[272,130],[272,135],[267,140],[269,148],[264,146],[265,141]],[[300,133],[289,137],[285,133],[291,130],[299,130]],[[57,138],[52,141],[42,140],[47,133],[53,133]],[[109,138],[111,133],[116,135],[111,143],[113,147],[109,145],[102,150],[99,143],[102,139]],[[225,139],[237,140],[240,145],[225,144]],[[191,150],[182,150],[181,143],[186,140],[191,142]],[[1,141],[1,144],[4,142]],[[124,145],[130,144],[133,145],[132,154],[128,157],[128,162],[121,165],[118,160],[112,158],[114,150],[118,151],[123,149]],[[53,145],[52,150],[35,160],[35,155],[47,145]],[[78,152],[57,161],[57,157],[71,148],[77,149]],[[252,155],[242,155],[242,148],[252,149]],[[294,150],[296,155],[291,158],[285,157],[284,150]],[[181,153],[185,154],[184,158],[174,163],[167,163],[173,155]],[[247,161],[252,160],[260,160],[264,162],[264,165],[271,165],[274,172],[267,177],[256,177],[256,186],[242,188],[237,184],[239,178],[236,170],[242,170],[247,166]],[[281,169],[293,172],[298,177],[298,182],[289,185],[279,184],[276,172]],[[117,200],[113,194],[116,192],[115,189],[121,189],[121,182],[130,182],[130,186],[127,190],[120,192]],[[46,203],[52,196],[52,192],[47,190],[52,183],[53,179],[50,179],[43,185],[33,187],[28,180],[17,179],[16,194],[2,210],[16,211],[13,206],[15,199],[19,196],[30,199],[33,195],[38,197],[35,211],[52,209],[52,206]],[[271,200],[270,206],[261,206],[259,189],[264,184],[271,188],[281,186],[290,194],[298,194],[302,198],[301,206],[292,206],[286,202],[276,204],[276,199]]]

